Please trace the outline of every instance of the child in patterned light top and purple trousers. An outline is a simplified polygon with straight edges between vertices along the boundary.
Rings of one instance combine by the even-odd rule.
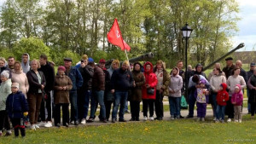
[[[207,114],[207,101],[209,91],[206,89],[206,81],[201,80],[199,82],[199,88],[195,90],[195,99],[196,99],[196,107],[197,107],[197,121],[205,121],[205,117]]]

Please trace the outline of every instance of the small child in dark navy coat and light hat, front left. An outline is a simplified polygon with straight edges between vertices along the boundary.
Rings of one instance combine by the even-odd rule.
[[[9,118],[15,128],[15,136],[19,136],[19,129],[21,136],[24,137],[25,125],[23,117],[26,117],[28,113],[28,105],[26,102],[25,95],[19,90],[19,84],[13,83],[11,86],[12,94],[10,94],[6,101],[6,111],[8,112]]]

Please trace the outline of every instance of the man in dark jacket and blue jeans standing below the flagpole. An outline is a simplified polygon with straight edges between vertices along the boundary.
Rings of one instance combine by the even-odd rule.
[[[114,93],[112,123],[116,122],[119,105],[119,122],[126,122],[125,101],[127,101],[128,90],[133,86],[133,78],[128,66],[129,62],[125,60],[121,68],[115,70],[111,77],[111,92]]]

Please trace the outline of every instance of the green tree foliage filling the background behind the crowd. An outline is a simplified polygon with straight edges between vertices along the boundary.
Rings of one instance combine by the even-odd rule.
[[[130,57],[154,52],[154,60],[165,60],[170,67],[184,60],[180,29],[188,23],[194,29],[189,64],[207,65],[231,48],[238,12],[236,0],[6,0],[0,14],[0,44],[14,51],[15,43],[25,40],[22,37],[38,37],[57,63],[66,55],[76,59],[83,54],[96,60],[125,60],[125,53],[107,40],[117,18],[131,46]]]

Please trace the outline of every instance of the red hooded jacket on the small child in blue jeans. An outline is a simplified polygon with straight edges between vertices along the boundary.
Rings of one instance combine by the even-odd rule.
[[[219,106],[226,106],[227,105],[227,101],[229,101],[229,99],[230,99],[230,95],[226,91],[227,84],[223,83],[221,85],[222,85],[223,89],[222,90],[218,90],[218,95],[216,96],[216,101],[217,101]]]

